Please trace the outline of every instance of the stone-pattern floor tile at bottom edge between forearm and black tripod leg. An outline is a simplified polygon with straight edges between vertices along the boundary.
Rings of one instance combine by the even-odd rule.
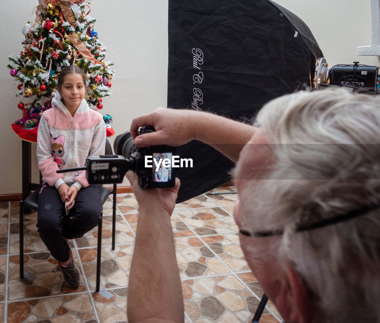
[[[249,322],[259,303],[233,274],[186,279],[181,284],[185,312],[193,322]],[[263,315],[268,314],[265,309]]]

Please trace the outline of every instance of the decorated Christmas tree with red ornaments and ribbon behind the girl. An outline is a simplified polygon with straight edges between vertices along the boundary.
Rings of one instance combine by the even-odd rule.
[[[104,61],[106,50],[93,29],[96,20],[89,16],[89,0],[38,1],[35,22],[28,22],[22,31],[24,50],[17,57],[10,56],[8,65],[11,76],[19,81],[16,96],[22,97],[18,104],[22,118],[14,125],[26,129],[38,126],[42,112],[51,107],[63,67],[75,64],[84,70],[85,99],[97,109],[103,108],[102,98],[109,95],[115,72],[110,68],[114,64]],[[103,118],[106,124],[112,122],[108,114]]]

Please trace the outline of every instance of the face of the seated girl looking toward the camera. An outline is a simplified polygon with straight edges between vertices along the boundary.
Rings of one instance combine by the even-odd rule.
[[[63,98],[63,103],[71,112],[79,107],[86,93],[86,84],[83,83],[82,75],[70,73],[65,75],[63,83],[59,89]]]

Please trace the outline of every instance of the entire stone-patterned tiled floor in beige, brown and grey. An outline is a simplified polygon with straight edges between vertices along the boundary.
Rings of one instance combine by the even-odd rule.
[[[225,187],[214,191],[234,190]],[[248,322],[262,291],[239,247],[232,214],[237,194],[203,194],[177,204],[171,217],[182,281],[185,321]],[[71,241],[82,269],[72,290],[57,272],[36,231],[36,212],[25,215],[25,278],[19,278],[18,202],[0,203],[0,321],[7,323],[114,323],[127,321],[128,274],[138,219],[133,194],[117,195],[116,248],[111,250],[112,200],[104,205],[101,291],[95,292],[97,228]],[[278,322],[267,305],[260,323]]]

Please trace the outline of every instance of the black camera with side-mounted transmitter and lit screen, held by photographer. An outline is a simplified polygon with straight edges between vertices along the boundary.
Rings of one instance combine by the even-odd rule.
[[[155,131],[152,126],[141,127],[139,134]],[[89,157],[86,166],[58,170],[57,173],[86,170],[89,184],[122,183],[128,170],[138,177],[141,189],[174,187],[176,148],[172,146],[150,146],[138,148],[129,131],[118,135],[114,142],[117,155]],[[120,156],[121,155],[121,156]]]

